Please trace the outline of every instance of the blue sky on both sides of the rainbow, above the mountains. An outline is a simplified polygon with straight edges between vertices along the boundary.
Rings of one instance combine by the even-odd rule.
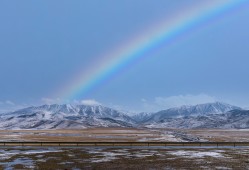
[[[55,91],[195,0],[0,1],[0,111],[59,102]],[[130,111],[224,101],[249,106],[248,5],[162,44],[75,100]]]

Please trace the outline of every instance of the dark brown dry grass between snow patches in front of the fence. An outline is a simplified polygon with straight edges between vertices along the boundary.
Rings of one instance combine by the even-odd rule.
[[[182,151],[183,149],[126,149],[127,153],[117,155],[116,159],[106,162],[92,162],[93,159],[102,159],[101,152],[122,153],[123,149],[106,148],[99,150],[98,153],[89,153],[89,149],[64,148],[60,152],[40,153],[32,155],[15,155],[6,162],[13,162],[18,158],[33,160],[34,167],[27,168],[22,164],[17,164],[14,169],[119,169],[119,170],[147,170],[147,169],[248,169],[249,168],[249,149],[219,149],[224,157],[204,156],[191,158],[176,156],[170,152]],[[189,152],[218,152],[217,149],[184,149]],[[137,154],[147,154],[139,157]],[[127,157],[129,155],[129,157]],[[41,161],[43,160],[43,161]],[[3,167],[2,167],[3,168]]]

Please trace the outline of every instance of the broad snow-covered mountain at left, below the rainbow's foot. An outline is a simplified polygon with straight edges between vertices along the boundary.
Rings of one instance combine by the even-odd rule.
[[[132,127],[125,113],[88,105],[43,105],[1,114],[1,129],[64,129],[87,127]]]

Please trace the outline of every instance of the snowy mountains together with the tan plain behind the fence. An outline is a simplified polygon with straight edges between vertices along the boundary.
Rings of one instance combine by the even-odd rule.
[[[53,104],[0,114],[0,141],[248,142],[249,111],[226,103],[130,115],[102,105]]]

